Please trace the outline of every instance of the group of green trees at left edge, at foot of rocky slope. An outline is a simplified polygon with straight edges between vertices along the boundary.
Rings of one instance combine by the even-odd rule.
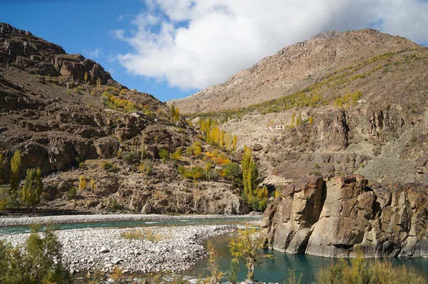
[[[43,181],[40,168],[29,168],[24,183],[21,183],[21,152],[15,151],[11,159],[11,178],[9,187],[0,190],[0,212],[7,208],[26,208],[36,211],[43,193]],[[4,157],[0,153],[0,181]]]

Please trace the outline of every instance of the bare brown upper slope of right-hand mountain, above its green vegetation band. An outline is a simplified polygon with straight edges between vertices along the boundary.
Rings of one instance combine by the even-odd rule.
[[[323,76],[387,52],[422,49],[374,29],[329,31],[281,49],[216,86],[175,100],[183,113],[243,108],[290,95]]]

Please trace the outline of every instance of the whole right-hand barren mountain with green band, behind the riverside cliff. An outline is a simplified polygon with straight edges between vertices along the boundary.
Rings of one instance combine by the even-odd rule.
[[[428,49],[407,39],[328,32],[174,104],[223,121],[276,188],[310,174],[427,183],[427,67]]]

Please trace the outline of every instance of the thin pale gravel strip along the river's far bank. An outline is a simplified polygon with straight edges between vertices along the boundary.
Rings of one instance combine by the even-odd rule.
[[[0,227],[12,225],[59,224],[59,223],[91,223],[121,220],[183,220],[183,219],[212,219],[212,218],[262,218],[261,214],[248,215],[157,215],[157,214],[109,214],[109,215],[50,215],[0,217]]]

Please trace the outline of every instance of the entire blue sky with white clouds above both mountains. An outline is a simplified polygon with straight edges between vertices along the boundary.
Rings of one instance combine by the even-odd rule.
[[[428,0],[0,0],[0,21],[161,101],[323,31],[371,27],[428,44]]]

